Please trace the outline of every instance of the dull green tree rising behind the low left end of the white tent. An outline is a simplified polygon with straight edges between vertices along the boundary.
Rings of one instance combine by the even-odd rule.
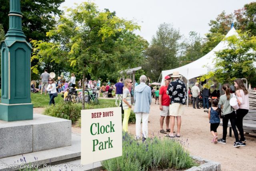
[[[178,64],[179,30],[171,24],[160,24],[153,36],[150,47],[146,50],[144,69],[151,80],[158,80],[162,70],[176,68]]]

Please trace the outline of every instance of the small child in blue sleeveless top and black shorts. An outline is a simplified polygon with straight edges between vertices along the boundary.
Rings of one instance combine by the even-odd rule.
[[[220,125],[220,114],[221,110],[218,108],[218,99],[212,101],[212,107],[208,111],[208,118],[210,120],[210,130],[213,135],[212,143],[216,144],[217,140],[217,128]]]

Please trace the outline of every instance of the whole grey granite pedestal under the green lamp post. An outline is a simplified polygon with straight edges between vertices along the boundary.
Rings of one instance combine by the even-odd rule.
[[[0,120],[0,158],[71,145],[71,121],[34,114],[33,120]]]

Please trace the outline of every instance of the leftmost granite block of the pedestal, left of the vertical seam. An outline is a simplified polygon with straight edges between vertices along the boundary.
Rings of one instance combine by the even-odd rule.
[[[15,126],[16,125],[16,126]],[[0,127],[0,158],[32,152],[32,125],[19,125],[16,122]]]

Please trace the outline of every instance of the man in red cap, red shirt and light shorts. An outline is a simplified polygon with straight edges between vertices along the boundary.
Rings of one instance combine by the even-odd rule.
[[[170,132],[169,123],[170,123],[170,96],[166,93],[168,85],[170,84],[171,77],[165,76],[165,85],[160,87],[159,91],[159,108],[160,108],[160,133]],[[164,131],[164,117],[166,117],[166,131]]]

